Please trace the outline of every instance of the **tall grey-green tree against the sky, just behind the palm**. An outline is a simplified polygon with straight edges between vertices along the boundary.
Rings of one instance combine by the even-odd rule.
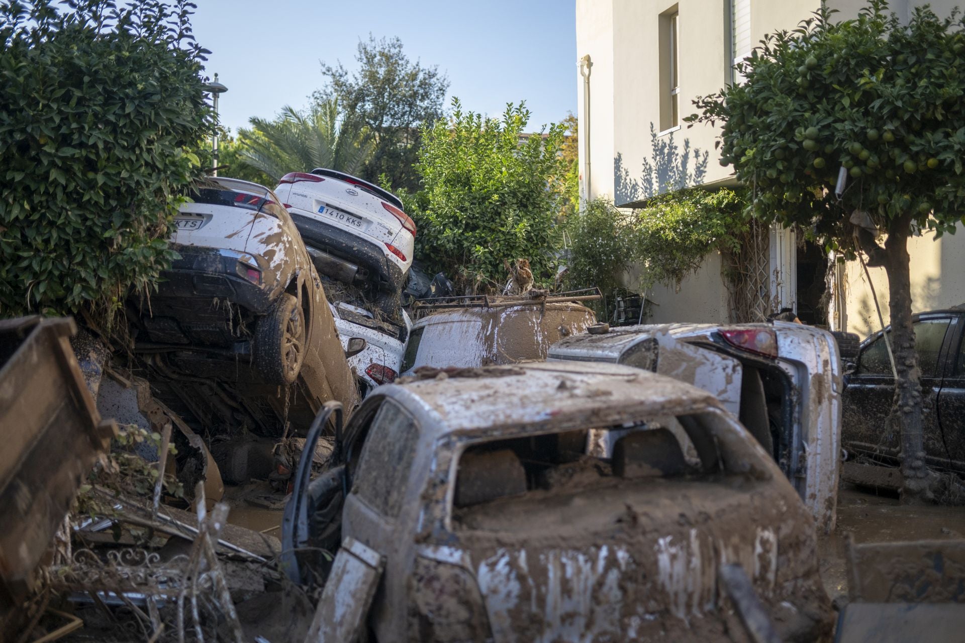
[[[398,38],[359,41],[355,61],[359,69],[349,74],[341,62],[322,64],[327,86],[316,92],[317,102],[334,96],[345,105],[346,122],[368,128],[374,137],[372,158],[363,178],[377,181],[388,176],[396,188],[419,188],[416,162],[420,127],[442,116],[449,80],[438,67],[413,63]]]

